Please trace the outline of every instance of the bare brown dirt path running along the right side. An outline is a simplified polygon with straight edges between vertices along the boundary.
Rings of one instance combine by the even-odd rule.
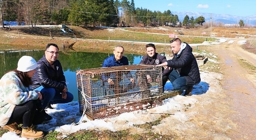
[[[236,42],[216,45],[211,50],[218,54],[220,62],[224,64],[221,84],[230,107],[228,119],[237,124],[234,132],[227,135],[232,139],[253,140],[256,136],[256,86],[253,80],[256,76],[250,75],[240,65],[238,57],[256,66],[256,55],[244,51]]]

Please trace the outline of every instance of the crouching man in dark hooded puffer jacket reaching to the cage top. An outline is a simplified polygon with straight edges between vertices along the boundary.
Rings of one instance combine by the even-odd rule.
[[[193,86],[198,84],[200,73],[192,48],[187,43],[182,43],[179,38],[170,41],[173,58],[156,66],[171,67],[169,75],[174,90],[186,90],[185,95],[191,95]]]

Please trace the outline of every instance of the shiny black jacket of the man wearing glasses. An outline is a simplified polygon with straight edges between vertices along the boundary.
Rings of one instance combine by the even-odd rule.
[[[66,79],[60,61],[56,60],[53,64],[55,70],[47,62],[45,56],[38,60],[36,72],[32,77],[33,89],[38,88],[41,85],[44,88],[56,88],[57,90],[64,89],[64,86],[66,86]]]

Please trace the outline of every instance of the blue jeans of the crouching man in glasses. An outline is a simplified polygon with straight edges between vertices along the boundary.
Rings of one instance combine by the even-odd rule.
[[[74,96],[70,92],[67,93],[67,98],[63,99],[60,90],[56,90],[55,88],[44,88],[43,86],[39,86],[34,89],[42,92],[42,107],[46,108],[48,104],[64,104],[71,102],[74,99]]]

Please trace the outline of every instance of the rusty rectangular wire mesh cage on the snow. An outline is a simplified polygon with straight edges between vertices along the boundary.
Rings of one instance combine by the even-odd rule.
[[[76,71],[81,114],[90,120],[162,105],[162,68],[128,65]]]

